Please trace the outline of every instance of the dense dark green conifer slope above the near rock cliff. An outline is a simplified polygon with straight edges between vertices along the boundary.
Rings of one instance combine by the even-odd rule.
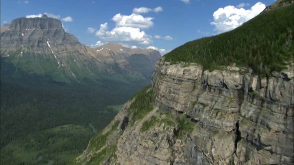
[[[232,31],[187,42],[164,60],[196,63],[209,70],[235,64],[250,67],[258,75],[281,71],[294,62],[293,9],[291,3],[263,11]]]

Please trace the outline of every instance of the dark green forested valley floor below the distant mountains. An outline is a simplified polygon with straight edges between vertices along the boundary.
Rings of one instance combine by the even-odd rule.
[[[141,88],[109,80],[101,80],[107,86],[58,83],[16,72],[2,61],[4,66],[0,88],[3,165],[66,164]]]

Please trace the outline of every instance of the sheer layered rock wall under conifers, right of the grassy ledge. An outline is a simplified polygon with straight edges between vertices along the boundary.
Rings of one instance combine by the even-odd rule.
[[[290,163],[293,71],[260,78],[244,68],[209,72],[161,59],[152,84],[160,108],[185,112],[198,127],[183,149],[190,163]]]

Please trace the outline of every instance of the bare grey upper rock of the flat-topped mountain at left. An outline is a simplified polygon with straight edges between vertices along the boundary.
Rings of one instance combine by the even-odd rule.
[[[46,15],[41,18],[14,19],[9,29],[1,35],[1,52],[22,48],[40,53],[54,52],[59,56],[65,55],[64,51],[73,53],[74,50],[83,50],[82,46],[74,35],[63,30],[60,20]]]

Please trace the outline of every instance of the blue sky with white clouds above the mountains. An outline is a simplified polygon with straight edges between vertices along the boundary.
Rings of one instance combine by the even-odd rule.
[[[92,47],[118,42],[162,54],[204,36],[232,30],[274,0],[1,0],[1,26],[44,13]],[[40,14],[40,15],[39,15]],[[107,24],[105,24],[107,23]]]

